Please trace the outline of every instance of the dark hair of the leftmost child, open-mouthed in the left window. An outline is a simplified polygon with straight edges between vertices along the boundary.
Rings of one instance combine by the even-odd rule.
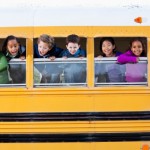
[[[15,37],[15,36],[13,36],[13,35],[9,35],[9,36],[4,40],[4,43],[3,43],[3,45],[2,45],[2,52],[6,52],[6,51],[7,51],[7,44],[8,44],[8,42],[11,41],[11,40],[16,40],[17,43],[20,45],[20,42],[19,42],[19,40],[18,40],[17,37]]]

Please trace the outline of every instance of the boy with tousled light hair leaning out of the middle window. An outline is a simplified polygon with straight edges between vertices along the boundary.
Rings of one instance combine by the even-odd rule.
[[[47,34],[42,34],[34,45],[34,58],[55,58],[61,57],[63,49],[56,47],[54,38]],[[44,83],[58,83],[59,82],[59,68],[57,65],[44,64],[37,66],[38,70],[42,73],[42,81]]]

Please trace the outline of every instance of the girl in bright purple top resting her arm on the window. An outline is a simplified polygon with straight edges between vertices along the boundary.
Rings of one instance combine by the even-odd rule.
[[[145,82],[147,73],[147,64],[138,63],[139,57],[144,57],[145,49],[143,42],[137,38],[130,42],[130,49],[124,54],[118,56],[117,60],[121,64],[126,64],[127,82]],[[137,64],[134,64],[137,63]]]

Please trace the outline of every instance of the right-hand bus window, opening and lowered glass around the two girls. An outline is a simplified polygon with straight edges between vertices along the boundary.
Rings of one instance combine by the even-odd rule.
[[[119,53],[125,53],[128,50],[130,38],[113,38],[115,40],[116,50]],[[140,38],[147,51],[147,39]],[[117,62],[117,57],[106,57],[100,53],[100,40],[95,38],[95,86],[106,85],[147,85],[147,57],[139,57],[138,63]],[[99,47],[98,47],[99,46]],[[98,51],[96,51],[98,49]],[[103,55],[103,57],[96,57]],[[120,54],[119,54],[120,55]]]

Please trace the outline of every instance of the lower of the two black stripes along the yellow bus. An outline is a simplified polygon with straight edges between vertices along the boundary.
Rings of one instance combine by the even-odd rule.
[[[0,134],[0,143],[150,141],[148,133]]]

